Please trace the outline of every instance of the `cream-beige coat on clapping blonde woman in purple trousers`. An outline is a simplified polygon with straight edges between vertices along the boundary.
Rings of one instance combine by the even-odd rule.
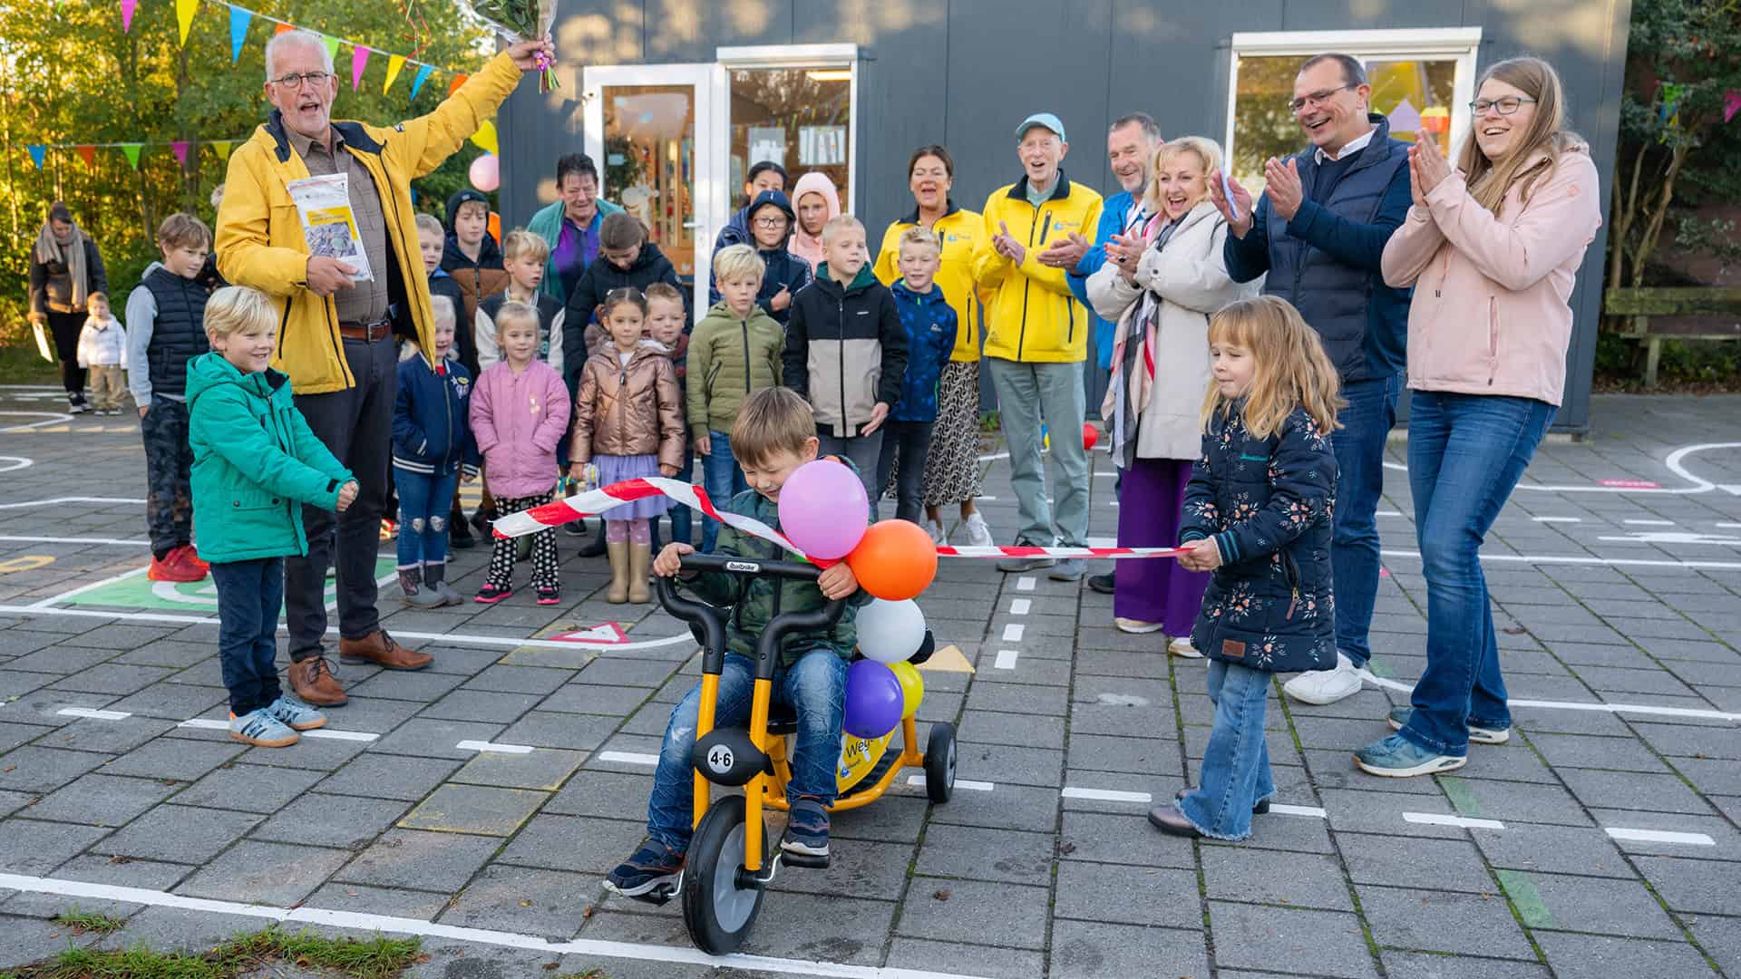
[[[1088,277],[1088,301],[1102,319],[1116,321],[1116,336],[1130,336],[1132,319],[1144,303],[1147,291],[1153,303],[1154,348],[1139,352],[1133,373],[1146,373],[1146,361],[1154,362],[1153,383],[1128,378],[1125,413],[1137,420],[1137,458],[1196,460],[1203,449],[1203,392],[1208,388],[1208,317],[1220,307],[1255,296],[1262,291],[1262,277],[1252,282],[1234,282],[1222,261],[1227,240],[1227,221],[1215,206],[1203,200],[1184,218],[1165,247],[1149,246],[1137,263],[1135,282],[1126,280],[1118,265],[1107,261]],[[1147,326],[1126,343],[1147,341]],[[1114,354],[1118,369],[1118,354]],[[1114,420],[1116,387],[1107,387],[1100,416]],[[1128,439],[1126,429],[1126,439]],[[1114,455],[1118,448],[1114,448]]]

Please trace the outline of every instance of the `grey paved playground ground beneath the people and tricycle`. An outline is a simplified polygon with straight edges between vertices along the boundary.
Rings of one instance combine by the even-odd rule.
[[[1106,596],[945,561],[923,606],[977,672],[926,672],[919,716],[959,726],[959,777],[991,789],[930,807],[904,786],[839,815],[834,868],[789,871],[766,899],[747,951],[780,962],[731,970],[693,960],[676,906],[601,888],[641,838],[644,756],[696,672],[688,641],[656,643],[679,624],[606,604],[604,568],[573,557],[573,538],[564,606],[413,611],[383,589],[388,629],[435,665],[343,667],[353,699],[331,726],[352,737],[245,749],[185,723],[223,718],[214,629],[197,622],[211,596],[111,580],[145,563],[136,425],[52,409],[52,392],[0,392],[0,967],[68,941],[192,948],[301,908],[630,942],[430,937],[420,976],[829,962],[1020,979],[1741,977],[1738,399],[1598,399],[1595,439],[1544,448],[1485,550],[1518,737],[1435,780],[1349,763],[1424,665],[1407,481],[1391,472],[1382,686],[1330,707],[1271,699],[1288,812],[1247,843],[1142,819],[1144,800],[1196,777],[1201,662],[1112,631]],[[1112,537],[1097,458],[1092,533]],[[1006,463],[989,467],[984,509],[1008,530]],[[1614,479],[1663,491],[1602,486]],[[481,552],[458,557],[461,591],[481,573]],[[613,620],[653,645],[522,643]],[[1012,669],[994,665],[1003,650]],[[145,892],[54,894],[66,881]],[[50,918],[73,906],[125,927],[70,935]]]

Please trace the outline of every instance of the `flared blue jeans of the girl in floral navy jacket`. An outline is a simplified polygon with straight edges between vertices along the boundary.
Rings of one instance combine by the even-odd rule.
[[[1179,810],[1205,836],[1245,840],[1252,834],[1252,807],[1276,794],[1269,742],[1264,740],[1269,678],[1259,669],[1208,662],[1215,726],[1203,749],[1198,787],[1179,803]]]

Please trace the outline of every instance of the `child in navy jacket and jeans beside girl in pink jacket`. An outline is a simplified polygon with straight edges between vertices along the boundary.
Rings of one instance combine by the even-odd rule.
[[[399,587],[406,604],[465,601],[447,584],[447,519],[460,481],[477,479],[477,444],[467,423],[472,375],[453,355],[458,310],[430,296],[435,348],[406,343],[393,401],[393,488],[399,491]]]

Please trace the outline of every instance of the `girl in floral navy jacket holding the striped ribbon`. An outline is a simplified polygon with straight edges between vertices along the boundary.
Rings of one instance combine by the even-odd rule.
[[[1215,571],[1191,632],[1210,657],[1215,728],[1198,787],[1149,822],[1173,836],[1245,840],[1276,791],[1264,744],[1269,674],[1335,662],[1330,430],[1344,401],[1318,334],[1285,300],[1227,305],[1210,321],[1208,345],[1213,381],[1179,563]]]

